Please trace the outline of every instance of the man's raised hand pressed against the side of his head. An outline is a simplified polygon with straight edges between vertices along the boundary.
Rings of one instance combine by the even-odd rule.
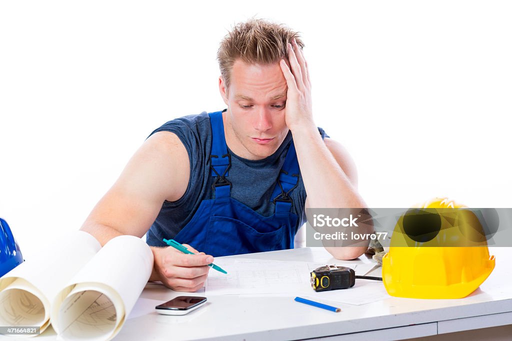
[[[308,64],[295,39],[292,44],[288,44],[288,61],[291,70],[284,59],[279,64],[288,85],[285,108],[286,125],[293,133],[294,130],[303,127],[306,129],[315,127]]]

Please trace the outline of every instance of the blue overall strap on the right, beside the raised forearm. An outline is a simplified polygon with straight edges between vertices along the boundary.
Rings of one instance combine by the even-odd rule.
[[[271,197],[271,200],[275,203],[275,213],[291,211],[293,200],[291,199],[290,193],[298,185],[299,174],[300,169],[298,167],[297,153],[295,152],[295,145],[292,140],[286,152],[285,162],[281,168],[278,181]]]

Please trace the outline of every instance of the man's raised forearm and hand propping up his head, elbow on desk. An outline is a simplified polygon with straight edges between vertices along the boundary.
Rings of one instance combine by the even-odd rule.
[[[306,207],[359,208],[366,207],[349,177],[318,134],[313,120],[311,82],[302,48],[292,39],[288,44],[288,61],[280,61],[286,79],[285,120],[293,135],[298,163],[306,188]],[[337,153],[335,153],[337,154]],[[337,156],[337,155],[336,155]],[[361,228],[367,230],[368,228]],[[364,247],[334,248],[338,259],[359,257]],[[352,249],[349,251],[348,249]],[[339,252],[341,253],[337,253]]]

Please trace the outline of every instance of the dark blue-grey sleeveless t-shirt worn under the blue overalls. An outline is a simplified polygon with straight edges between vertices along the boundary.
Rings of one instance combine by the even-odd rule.
[[[160,212],[146,234],[146,242],[150,246],[167,246],[162,240],[173,239],[180,230],[193,218],[203,200],[214,198],[211,185],[215,178],[211,176],[207,165],[211,154],[211,125],[206,112],[199,115],[188,115],[168,121],[153,131],[151,135],[167,131],[178,136],[188,153],[190,161],[190,178],[185,194],[177,201],[164,201]],[[329,137],[322,128],[318,128],[322,138]],[[258,214],[269,217],[274,214],[275,204],[272,193],[276,186],[286,151],[292,134],[288,132],[283,143],[272,155],[261,160],[248,160],[231,154],[229,181],[232,183],[231,198],[247,205]],[[291,213],[300,217],[295,232],[306,222],[305,201],[306,189],[302,176],[298,186],[291,193],[293,206]],[[201,251],[201,250],[200,250]]]

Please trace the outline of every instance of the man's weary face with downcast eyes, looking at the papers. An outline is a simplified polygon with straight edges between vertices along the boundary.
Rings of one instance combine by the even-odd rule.
[[[228,107],[224,125],[233,153],[251,160],[272,155],[288,133],[284,110],[288,87],[279,63],[248,65],[237,60],[227,93],[222,78],[219,89]]]

